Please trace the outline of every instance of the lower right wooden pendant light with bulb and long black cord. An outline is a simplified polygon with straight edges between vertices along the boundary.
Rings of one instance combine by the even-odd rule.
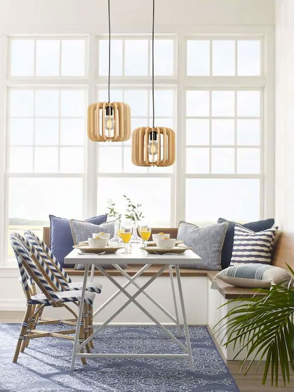
[[[132,134],[132,163],[136,166],[171,166],[176,160],[176,136],[172,129],[154,127],[154,0],[152,18],[152,107],[153,125],[136,128]]]

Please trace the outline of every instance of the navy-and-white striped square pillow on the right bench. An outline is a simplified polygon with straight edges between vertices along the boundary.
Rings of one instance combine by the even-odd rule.
[[[236,224],[230,266],[239,263],[270,264],[276,231],[276,227],[271,227],[254,232]]]

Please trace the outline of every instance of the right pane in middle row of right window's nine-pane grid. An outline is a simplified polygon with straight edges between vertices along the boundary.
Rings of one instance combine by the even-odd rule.
[[[237,120],[237,144],[260,144],[260,120]]]

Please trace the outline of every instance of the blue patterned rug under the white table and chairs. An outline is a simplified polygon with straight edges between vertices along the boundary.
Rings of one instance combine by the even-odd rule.
[[[239,392],[207,328],[189,329],[195,372],[186,358],[90,358],[87,365],[77,359],[71,372],[72,341],[32,339],[12,363],[20,325],[0,324],[0,391]],[[107,327],[94,346],[93,352],[182,353],[158,327]]]

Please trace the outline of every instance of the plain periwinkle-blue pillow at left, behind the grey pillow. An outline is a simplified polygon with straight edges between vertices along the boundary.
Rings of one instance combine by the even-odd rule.
[[[50,249],[60,264],[64,266],[64,258],[73,250],[74,245],[71,228],[69,226],[69,219],[58,218],[54,215],[49,215],[49,219]],[[105,223],[106,220],[107,214],[86,219],[87,222],[94,223],[94,225],[101,225],[102,223]],[[74,267],[74,264],[66,265],[66,267]]]

